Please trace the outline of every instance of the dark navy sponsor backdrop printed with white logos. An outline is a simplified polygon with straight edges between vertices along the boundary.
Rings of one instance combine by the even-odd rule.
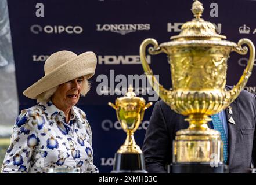
[[[201,2],[205,9],[203,18],[214,23],[220,34],[233,42],[249,38],[255,43],[256,1]],[[115,110],[107,102],[114,102],[124,94],[128,84],[132,84],[136,94],[146,102],[158,100],[143,75],[140,43],[146,38],[154,38],[158,43],[167,42],[170,36],[179,34],[182,24],[193,18],[192,3],[192,0],[9,0],[20,110],[35,105],[34,100],[22,93],[44,76],[44,62],[48,56],[59,50],[77,54],[94,51],[98,56],[96,74],[91,79],[91,91],[81,98],[78,107],[85,111],[92,127],[95,164],[101,173],[109,173],[113,168],[114,153],[124,143],[125,133]],[[43,10],[37,12],[40,7]],[[38,16],[40,13],[41,17]],[[248,55],[230,54],[228,84],[238,82],[247,58]],[[147,59],[160,83],[170,88],[170,67],[165,54]],[[255,79],[256,72],[246,90],[256,93]],[[140,147],[152,110],[153,106],[146,110],[142,125],[135,133]]]

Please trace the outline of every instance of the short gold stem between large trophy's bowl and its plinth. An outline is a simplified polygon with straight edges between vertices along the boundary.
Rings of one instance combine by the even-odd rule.
[[[189,130],[191,131],[207,131],[210,128],[208,127],[208,121],[212,119],[206,114],[191,114],[185,121],[189,122]]]

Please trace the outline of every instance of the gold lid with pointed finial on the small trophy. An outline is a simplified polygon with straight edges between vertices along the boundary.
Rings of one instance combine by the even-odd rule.
[[[123,97],[116,99],[116,105],[123,105],[123,103],[129,102],[137,102],[145,105],[144,98],[136,97],[136,94],[134,93],[134,88],[132,88],[131,85],[128,88],[128,92]]]

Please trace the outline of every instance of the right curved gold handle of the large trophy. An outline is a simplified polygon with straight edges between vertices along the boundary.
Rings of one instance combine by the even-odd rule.
[[[253,70],[254,60],[255,60],[255,47],[253,45],[253,42],[249,39],[240,39],[237,43],[237,47],[235,47],[234,51],[236,53],[245,55],[247,54],[248,48],[242,47],[242,45],[248,45],[250,49],[250,56],[248,60],[248,64],[246,66],[246,69],[244,69],[243,75],[240,77],[239,82],[233,87],[232,90],[228,91],[229,99],[228,99],[228,105],[232,103],[240,94],[241,90],[243,90],[244,86],[246,86],[246,83],[251,76],[251,71]]]

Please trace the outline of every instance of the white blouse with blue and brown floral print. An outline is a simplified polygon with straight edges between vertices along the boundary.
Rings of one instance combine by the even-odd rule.
[[[22,110],[17,117],[2,173],[45,173],[49,168],[98,173],[92,132],[85,113],[73,106],[69,123],[51,102]]]

